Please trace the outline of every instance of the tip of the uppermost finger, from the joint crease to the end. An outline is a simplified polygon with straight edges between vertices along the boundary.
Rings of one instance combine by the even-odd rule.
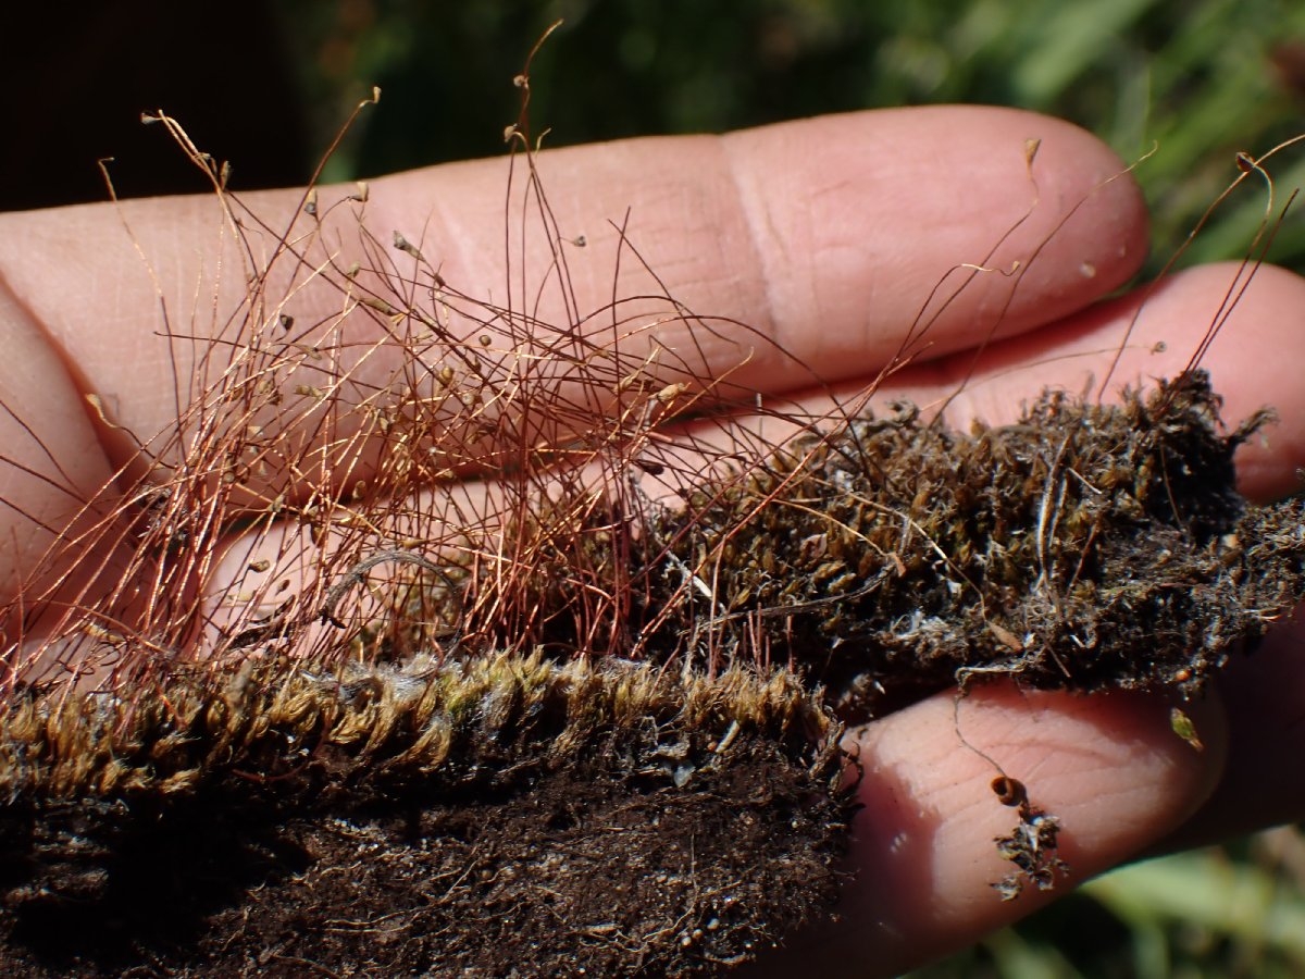
[[[1034,112],[877,110],[731,133],[724,146],[776,337],[827,380],[839,364],[886,363],[917,315],[936,356],[1082,308],[1146,257],[1126,163]]]

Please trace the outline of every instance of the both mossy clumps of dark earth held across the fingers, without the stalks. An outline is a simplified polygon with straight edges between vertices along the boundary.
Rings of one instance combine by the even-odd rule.
[[[130,702],[31,691],[0,718],[0,957],[206,976],[745,961],[835,907],[834,709],[996,674],[1194,692],[1300,600],[1305,503],[1236,492],[1267,414],[1227,432],[1218,410],[1201,372],[968,432],[903,406],[709,474],[679,509],[612,500],[555,527],[540,504],[519,594],[407,557],[459,659],[342,671],[256,645]],[[613,568],[622,600],[595,606]],[[504,608],[547,657],[495,651]],[[628,645],[590,659],[578,637],[599,634]],[[1007,898],[1054,884],[1073,829],[1024,796],[1018,818]]]

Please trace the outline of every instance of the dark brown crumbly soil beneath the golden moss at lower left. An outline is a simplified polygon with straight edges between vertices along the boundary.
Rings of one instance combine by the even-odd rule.
[[[581,724],[574,688],[549,696],[475,748],[455,734],[433,771],[416,731],[364,758],[320,717],[286,769],[303,752],[269,753],[291,741],[264,710],[236,764],[205,757],[184,790],[164,764],[110,798],[27,792],[0,809],[0,961],[31,976],[688,975],[829,914],[851,816],[837,726],[728,719],[737,704]],[[205,717],[185,734],[214,740]],[[176,732],[134,739],[141,771]]]

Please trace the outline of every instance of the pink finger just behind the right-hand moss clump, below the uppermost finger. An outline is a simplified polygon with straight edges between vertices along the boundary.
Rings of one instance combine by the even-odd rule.
[[[1238,486],[1258,500],[1282,496],[1300,487],[1305,465],[1297,371],[1305,359],[1305,279],[1265,266],[1238,292],[1244,274],[1231,262],[1190,269],[981,352],[911,365],[889,379],[881,397],[945,402],[954,424],[1013,422],[1047,388],[1116,399],[1124,388],[1176,377],[1218,326],[1199,365],[1224,398],[1224,420],[1235,427],[1266,406],[1278,412],[1276,424],[1238,449]],[[1236,303],[1227,308],[1229,294]]]

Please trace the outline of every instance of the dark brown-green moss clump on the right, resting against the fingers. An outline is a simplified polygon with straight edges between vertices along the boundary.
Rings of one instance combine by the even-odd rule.
[[[1302,503],[1236,491],[1267,419],[1224,432],[1198,371],[1120,406],[1044,393],[1000,428],[899,406],[800,439],[663,514],[713,600],[656,597],[660,641],[791,657],[856,713],[988,672],[1194,691],[1305,593]]]

